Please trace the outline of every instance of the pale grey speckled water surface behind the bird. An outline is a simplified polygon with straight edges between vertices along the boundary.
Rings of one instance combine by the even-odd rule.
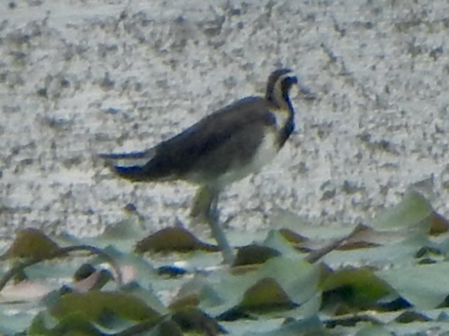
[[[0,234],[92,235],[137,206],[149,228],[189,224],[194,188],[130,184],[92,159],[140,150],[242,96],[282,65],[297,131],[221,198],[231,227],[276,209],[368,221],[414,185],[449,215],[449,4],[429,1],[0,3]]]

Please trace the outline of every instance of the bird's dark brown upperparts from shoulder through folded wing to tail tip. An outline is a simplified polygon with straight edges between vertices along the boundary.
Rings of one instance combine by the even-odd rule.
[[[245,166],[257,154],[266,127],[276,125],[273,109],[264,98],[243,98],[154,148],[101,157],[131,181],[213,181],[230,168]]]

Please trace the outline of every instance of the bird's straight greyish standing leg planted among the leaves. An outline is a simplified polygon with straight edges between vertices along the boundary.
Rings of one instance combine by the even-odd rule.
[[[224,263],[231,264],[234,260],[234,253],[219,223],[218,199],[219,193],[217,191],[210,191],[210,204],[205,212],[205,218],[207,224],[210,226],[213,238],[217,240]]]

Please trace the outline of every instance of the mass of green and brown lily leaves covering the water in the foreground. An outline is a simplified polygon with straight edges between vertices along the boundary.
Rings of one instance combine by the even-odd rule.
[[[287,211],[230,232],[233,265],[183,227],[129,218],[95,238],[17,233],[2,256],[3,335],[406,335],[448,330],[449,221],[408,193],[366,225]],[[144,238],[142,238],[144,237]],[[254,240],[253,240],[254,239]]]

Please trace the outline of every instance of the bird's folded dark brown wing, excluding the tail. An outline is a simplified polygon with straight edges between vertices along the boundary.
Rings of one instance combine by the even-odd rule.
[[[263,139],[264,128],[273,123],[265,99],[238,100],[157,145],[142,175],[164,179],[182,178],[192,170],[222,173],[236,156],[249,159]]]

